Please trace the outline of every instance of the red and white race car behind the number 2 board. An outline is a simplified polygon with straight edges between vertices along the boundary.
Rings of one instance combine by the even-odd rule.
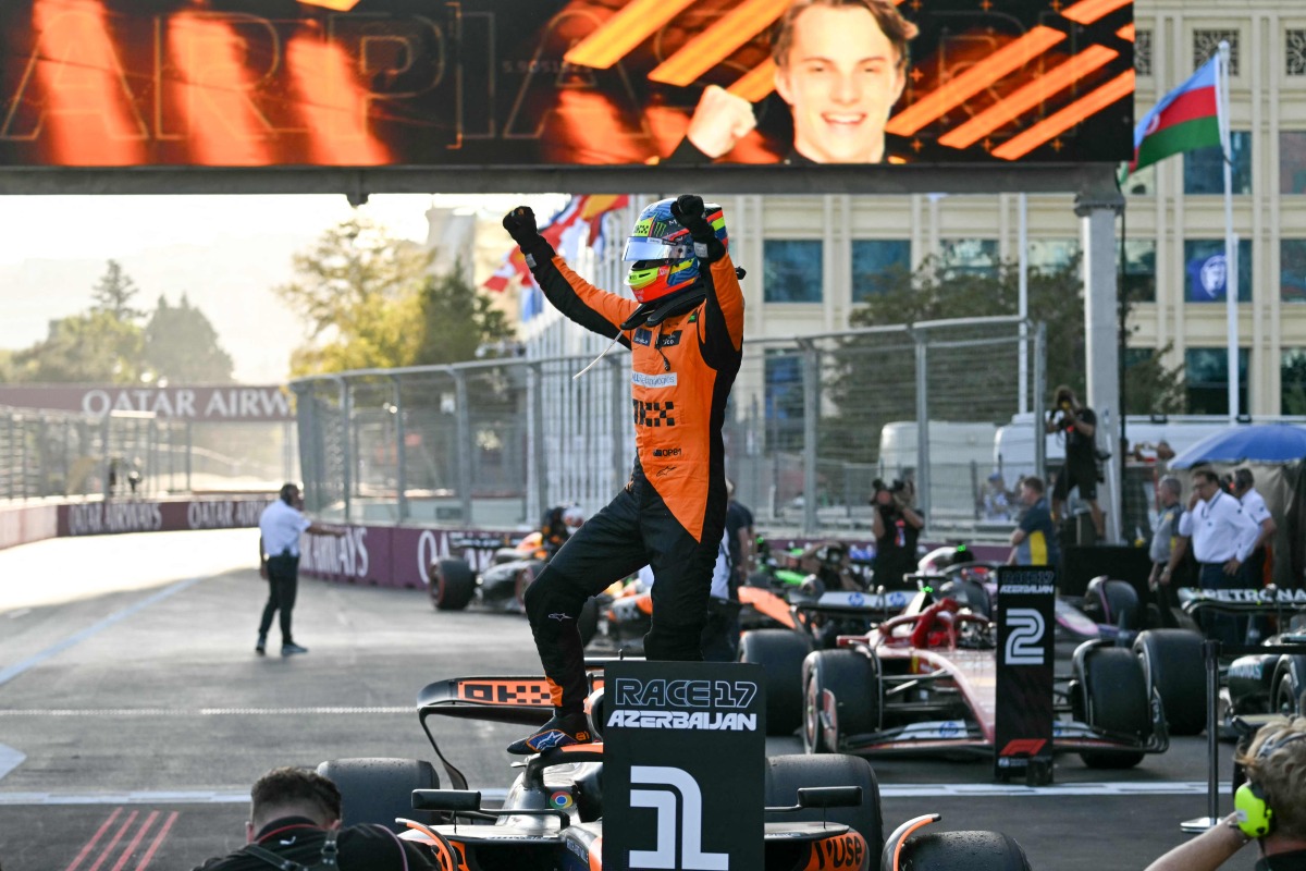
[[[810,753],[994,752],[996,627],[943,598],[842,636],[803,661],[803,746]],[[1164,752],[1169,733],[1149,671],[1101,640],[1054,680],[1057,752],[1092,768],[1130,768]]]

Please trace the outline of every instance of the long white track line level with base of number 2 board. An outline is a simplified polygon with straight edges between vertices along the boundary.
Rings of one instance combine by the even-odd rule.
[[[1229,784],[1218,785],[1221,794]],[[482,789],[488,802],[502,802],[505,789]],[[897,784],[882,786],[882,798],[1054,798],[1063,795],[1205,795],[1205,781],[1157,784],[1064,784],[1060,786],[999,786],[985,784]],[[247,804],[248,790],[137,790],[129,793],[0,793],[0,806],[33,804]]]

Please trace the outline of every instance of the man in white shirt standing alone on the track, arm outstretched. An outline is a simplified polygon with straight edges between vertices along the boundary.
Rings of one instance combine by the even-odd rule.
[[[345,534],[342,529],[321,526],[308,520],[299,509],[299,487],[285,484],[277,494],[277,501],[263,509],[259,516],[259,575],[268,581],[268,603],[259,622],[259,644],[253,652],[260,657],[268,652],[268,629],[272,628],[272,615],[281,612],[281,656],[308,653],[308,648],[295,644],[290,635],[290,612],[295,607],[295,592],[299,588],[299,537],[303,533],[316,535]]]

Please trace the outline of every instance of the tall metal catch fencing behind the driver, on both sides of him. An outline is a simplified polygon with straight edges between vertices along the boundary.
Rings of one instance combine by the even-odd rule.
[[[573,377],[603,343],[294,381],[307,508],[464,529],[528,528],[554,504],[597,511],[633,461],[629,354]],[[1007,487],[1043,466],[1043,359],[1042,326],[1013,317],[746,341],[726,473],[772,530],[868,530],[874,482],[909,479],[927,531],[1010,531],[1015,511],[995,515],[986,488],[1017,411],[1033,454]]]

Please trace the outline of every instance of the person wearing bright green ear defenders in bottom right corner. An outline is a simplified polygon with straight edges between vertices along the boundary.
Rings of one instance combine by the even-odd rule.
[[[1247,782],[1233,814],[1147,871],[1215,871],[1256,841],[1256,871],[1306,871],[1306,717],[1262,726],[1246,753],[1234,757]]]

